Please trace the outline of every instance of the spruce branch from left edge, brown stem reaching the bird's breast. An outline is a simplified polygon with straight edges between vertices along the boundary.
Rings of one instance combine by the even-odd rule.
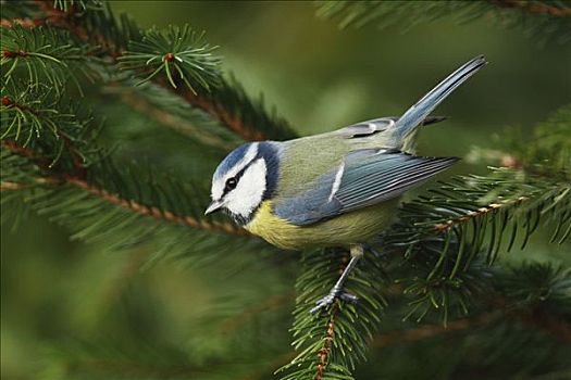
[[[90,135],[94,129],[89,125],[90,121],[76,118],[76,110],[61,110],[59,102],[59,99],[50,99],[49,91],[42,93],[33,90],[20,96],[17,101],[9,94],[2,97],[2,147],[32,160],[39,166],[44,174],[36,177],[36,181],[73,185],[105,202],[128,208],[141,216],[152,216],[202,230],[247,236],[244,230],[228,223],[210,223],[190,215],[183,215],[181,214],[183,210],[179,210],[178,213],[174,210],[170,211],[164,204],[148,205],[146,202],[134,200],[127,194],[121,197],[121,192],[126,190],[124,187],[110,191],[104,189],[103,183],[94,183],[94,178],[101,181],[101,179],[110,177],[111,181],[115,181],[117,178],[113,178],[113,176],[122,177],[121,180],[126,177],[124,174],[112,169],[113,164],[110,160],[101,156],[102,152],[94,147],[92,135]],[[49,128],[46,128],[45,125]],[[49,129],[49,134],[44,134],[45,129]],[[91,132],[89,132],[90,129]],[[25,138],[20,138],[20,135],[25,136]],[[64,156],[62,150],[67,152],[66,160],[63,162],[61,160]],[[61,163],[61,165],[57,166],[57,163]],[[110,168],[105,168],[105,165]],[[103,170],[99,178],[98,170]],[[13,182],[10,179],[8,181]],[[3,188],[14,188],[14,186],[8,185]],[[181,194],[183,193],[181,192]],[[166,202],[170,202],[167,195],[163,197],[166,198]],[[173,203],[170,202],[170,204],[172,207]]]

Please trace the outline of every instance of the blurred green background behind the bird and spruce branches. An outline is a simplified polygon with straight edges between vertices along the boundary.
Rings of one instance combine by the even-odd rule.
[[[571,100],[569,47],[539,45],[520,29],[506,29],[485,17],[467,25],[421,24],[407,33],[374,26],[339,30],[335,22],[318,20],[314,7],[302,1],[111,3],[141,27],[189,23],[204,29],[207,40],[220,46],[225,72],[250,94],[263,91],[265,102],[275,104],[301,135],[398,115],[477,54],[485,54],[489,65],[438,109],[437,114],[450,119],[422,132],[419,152],[466,156],[473,145],[493,144],[506,126],[525,135]],[[100,116],[109,125],[122,123],[120,114]],[[152,124],[144,116],[136,121]],[[209,165],[207,169],[213,169],[215,161]],[[482,164],[466,162],[455,168],[484,170]],[[542,241],[536,237],[525,254],[514,251],[504,259],[569,262],[563,256],[569,245],[546,246]],[[289,318],[295,263],[260,270],[229,257],[236,262],[233,273],[176,262],[140,270],[149,252],[101,254],[97,245],[72,242],[65,230],[34,215],[17,228],[2,225],[1,251],[2,379],[57,379],[59,371],[73,366],[70,355],[79,360],[84,352],[99,351],[163,355],[164,366],[176,355],[188,356],[193,363],[212,363],[215,371],[219,353],[228,344],[245,344],[232,325],[209,319],[212,311],[220,312],[221,296],[240,297],[245,307],[261,303],[260,313],[263,301],[275,296],[284,304],[276,320]],[[287,324],[257,328],[258,334],[245,333],[252,344],[272,337],[276,350],[287,353]],[[266,373],[287,362],[287,356],[280,362],[271,350],[255,355],[268,366]],[[59,362],[60,356],[66,359]],[[431,369],[422,356],[411,366],[424,366],[426,378],[449,376]],[[99,371],[103,378],[104,370]],[[394,378],[407,378],[395,371]],[[146,372],[132,373],[135,379]]]

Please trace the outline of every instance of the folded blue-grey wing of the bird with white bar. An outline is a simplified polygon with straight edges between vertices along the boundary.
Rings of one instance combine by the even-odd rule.
[[[311,183],[311,190],[280,200],[274,212],[294,225],[311,225],[398,197],[457,161],[384,149],[353,151]]]

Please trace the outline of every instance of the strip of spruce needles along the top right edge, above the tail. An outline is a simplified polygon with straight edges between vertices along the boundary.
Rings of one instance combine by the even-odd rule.
[[[454,20],[464,24],[494,17],[505,27],[521,27],[530,37],[564,45],[571,39],[571,7],[566,1],[318,1],[318,16],[335,18],[339,27],[397,26],[410,28],[421,23]]]

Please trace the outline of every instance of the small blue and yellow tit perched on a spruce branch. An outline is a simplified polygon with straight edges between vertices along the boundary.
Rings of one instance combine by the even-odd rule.
[[[415,155],[419,127],[442,122],[445,117],[429,115],[485,64],[484,55],[468,61],[400,117],[239,145],[216,167],[212,202],[204,213],[224,211],[250,233],[280,249],[348,249],[351,259],[310,312],[336,299],[357,302],[344,284],[368,242],[394,223],[407,190],[459,160]]]

